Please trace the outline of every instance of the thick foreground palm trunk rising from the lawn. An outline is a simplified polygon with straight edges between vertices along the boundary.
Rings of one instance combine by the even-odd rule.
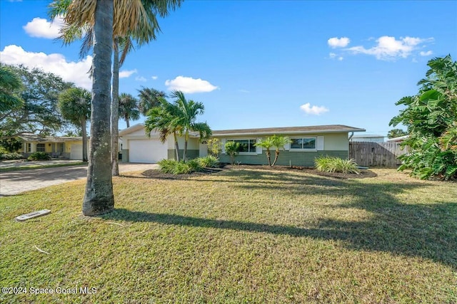
[[[91,149],[83,201],[83,214],[86,216],[114,209],[110,133],[113,6],[113,0],[97,1],[95,9]]]

